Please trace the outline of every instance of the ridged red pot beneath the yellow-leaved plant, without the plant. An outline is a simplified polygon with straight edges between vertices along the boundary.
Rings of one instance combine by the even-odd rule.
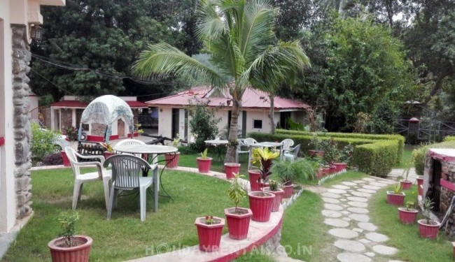
[[[248,193],[251,212],[253,212],[254,221],[267,222],[272,213],[274,194],[262,191],[253,191]]]

